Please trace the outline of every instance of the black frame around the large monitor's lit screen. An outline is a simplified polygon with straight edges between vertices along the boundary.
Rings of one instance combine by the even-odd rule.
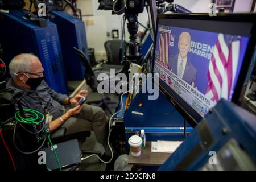
[[[157,28],[158,28],[159,19],[162,19],[162,18],[252,23],[252,28],[250,32],[251,36],[249,37],[250,39],[247,45],[245,56],[243,58],[243,64],[242,64],[240,73],[238,75],[236,88],[234,89],[233,97],[231,100],[235,104],[239,105],[239,102],[240,102],[239,98],[242,92],[242,86],[245,83],[247,71],[249,69],[249,65],[251,63],[251,59],[253,57],[254,48],[255,48],[256,14],[255,13],[250,13],[250,14],[249,13],[220,13],[220,14],[217,14],[217,16],[212,16],[212,17],[209,16],[209,14],[207,13],[158,14],[156,19],[156,29],[155,29],[156,31],[155,31],[155,38],[154,38],[155,44],[156,44],[156,32],[158,31]],[[154,46],[154,53],[152,57],[151,73],[154,73],[153,71],[154,71],[154,64],[155,64],[155,47],[156,46]],[[154,81],[154,74],[152,75],[153,75],[152,79]],[[166,88],[164,88],[164,86],[162,85],[166,85],[166,83],[164,83],[162,80],[159,79],[158,87],[160,92],[162,92],[164,96],[166,96],[167,100],[170,101],[176,107],[176,109],[180,112],[180,114],[184,117],[184,119],[188,121],[192,127],[195,127],[200,122],[202,117],[195,110],[193,110],[192,107],[189,106],[187,102],[183,100],[183,98],[181,98],[176,92],[174,92],[174,90],[172,90],[167,85],[166,85]],[[181,100],[181,102],[183,102],[182,103],[183,105],[181,105],[181,103],[178,100]],[[191,113],[189,113],[186,108],[189,108],[191,110]]]

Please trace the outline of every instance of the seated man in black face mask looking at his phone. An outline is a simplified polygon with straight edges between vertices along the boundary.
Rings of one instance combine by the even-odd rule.
[[[87,93],[86,90],[80,91],[73,98],[56,93],[44,81],[42,64],[32,54],[15,56],[9,69],[12,79],[7,85],[24,91],[22,106],[52,116],[52,121],[46,124],[49,132],[59,127],[65,127],[67,135],[93,130],[97,141],[105,148],[105,156],[111,157],[107,143],[109,118],[105,112],[100,107],[88,104],[72,107]]]

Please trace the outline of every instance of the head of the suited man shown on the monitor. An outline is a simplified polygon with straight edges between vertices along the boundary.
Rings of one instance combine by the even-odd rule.
[[[187,53],[190,49],[191,37],[188,32],[182,32],[179,36],[179,52],[182,59],[187,57]]]

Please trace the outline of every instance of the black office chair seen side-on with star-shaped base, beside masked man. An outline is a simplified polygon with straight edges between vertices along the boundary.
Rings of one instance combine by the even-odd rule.
[[[76,47],[73,47],[75,53],[77,56],[79,56],[79,59],[82,63],[82,65],[85,67],[85,73],[84,73],[84,78],[86,80],[86,84],[92,88],[93,92],[97,92],[97,85],[99,82],[97,80],[97,76],[100,73],[106,73],[108,77],[110,77],[110,67],[109,65],[102,64],[101,68],[92,68],[90,66],[89,60],[85,56],[85,53],[77,49]],[[115,74],[120,73],[123,68],[119,67],[119,69],[115,69]],[[111,78],[110,78],[111,79]],[[106,79],[107,80],[107,79]],[[106,81],[105,79],[102,81]],[[108,81],[108,80],[107,80]],[[109,80],[110,81],[110,80]],[[115,80],[118,81],[118,80]],[[109,84],[110,86],[110,84]],[[102,98],[100,101],[90,101],[87,102],[88,104],[97,104],[97,106],[102,107],[102,109],[106,109],[109,111],[109,113],[112,115],[112,111],[109,109],[109,104],[115,104],[115,101],[111,101],[109,97],[105,97],[104,93],[101,94]]]

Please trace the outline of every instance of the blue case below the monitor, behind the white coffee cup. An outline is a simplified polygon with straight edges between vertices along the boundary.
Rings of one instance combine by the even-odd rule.
[[[129,151],[127,140],[141,129],[145,130],[147,141],[184,140],[184,118],[162,92],[156,100],[148,100],[148,93],[137,93],[125,112],[124,125],[126,151]],[[188,123],[186,126],[186,133],[190,133],[193,128]]]

